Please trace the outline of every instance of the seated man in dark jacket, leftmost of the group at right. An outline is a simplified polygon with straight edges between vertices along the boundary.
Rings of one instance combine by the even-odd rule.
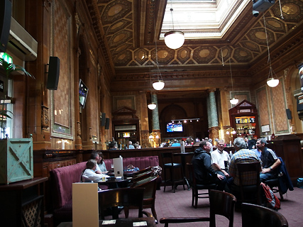
[[[211,143],[203,140],[199,143],[199,148],[194,151],[192,157],[192,165],[194,167],[194,175],[197,178],[197,184],[217,184],[220,191],[224,190],[226,178],[219,175],[211,167]]]

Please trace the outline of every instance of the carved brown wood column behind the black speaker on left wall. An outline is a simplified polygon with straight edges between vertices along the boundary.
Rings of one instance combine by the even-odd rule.
[[[33,7],[34,1],[25,1],[25,10],[28,13],[26,20],[26,30],[33,35],[35,40],[38,41],[38,55],[34,62],[26,62],[27,71],[31,72],[35,77],[34,80],[27,80],[26,92],[26,121],[21,123],[25,127],[24,138],[28,134],[33,135],[33,150],[50,148],[50,118],[49,118],[49,94],[46,89],[46,82],[48,78],[48,61],[50,50],[50,26],[43,26],[42,28],[37,25],[36,21],[40,24],[50,25],[50,6],[51,1],[42,1],[42,7]],[[39,64],[37,64],[39,62]]]

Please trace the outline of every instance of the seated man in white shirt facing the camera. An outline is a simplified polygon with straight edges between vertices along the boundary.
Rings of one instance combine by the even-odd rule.
[[[217,149],[211,153],[211,166],[216,170],[217,174],[228,178],[228,165],[230,162],[231,158],[224,150],[224,140],[219,140]]]

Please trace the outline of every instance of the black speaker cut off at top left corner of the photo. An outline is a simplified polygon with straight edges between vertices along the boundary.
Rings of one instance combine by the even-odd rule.
[[[0,52],[6,52],[11,28],[11,1],[0,1]]]

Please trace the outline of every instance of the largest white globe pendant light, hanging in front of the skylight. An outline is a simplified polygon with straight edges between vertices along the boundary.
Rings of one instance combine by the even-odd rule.
[[[171,8],[170,8],[170,14],[172,15],[172,1],[170,1]],[[169,31],[164,34],[164,41],[165,45],[167,45],[167,48],[170,49],[178,49],[181,48],[184,43],[184,33],[182,31],[177,31],[174,28],[174,18],[172,16],[172,31]]]

